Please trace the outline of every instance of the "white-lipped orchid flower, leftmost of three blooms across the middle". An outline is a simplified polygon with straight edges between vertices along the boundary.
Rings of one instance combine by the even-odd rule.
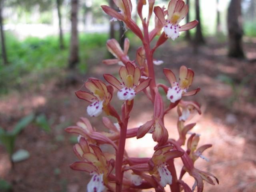
[[[84,86],[91,93],[79,90],[76,92],[76,96],[91,103],[87,107],[88,115],[97,117],[102,113],[102,110],[109,114],[108,105],[112,99],[112,86],[106,86],[101,80],[94,78],[89,78]]]

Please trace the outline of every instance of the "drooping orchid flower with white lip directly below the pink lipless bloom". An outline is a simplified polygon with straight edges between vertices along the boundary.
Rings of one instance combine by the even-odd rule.
[[[166,162],[183,155],[183,152],[172,150],[172,148],[173,146],[170,145],[159,147],[154,152],[152,159],[148,161],[149,166],[152,168],[151,174],[153,174],[162,187],[172,184],[172,174],[168,170],[168,164]]]

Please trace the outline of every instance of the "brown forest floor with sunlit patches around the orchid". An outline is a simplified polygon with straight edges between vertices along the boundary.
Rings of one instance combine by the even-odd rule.
[[[202,105],[202,115],[196,115],[190,122],[197,122],[193,132],[201,135],[199,146],[212,144],[199,159],[196,168],[208,171],[218,177],[220,184],[205,183],[205,191],[256,191],[256,42],[247,39],[244,49],[246,60],[226,57],[226,44],[208,39],[206,46],[200,46],[197,54],[187,43],[171,44],[170,41],[156,52],[155,58],[164,64],[156,66],[158,82],[164,82],[163,68],[170,68],[178,75],[181,65],[195,72],[191,90],[201,91],[189,99]],[[131,46],[129,55],[134,54]],[[30,158],[16,163],[14,169],[8,154],[0,146],[0,178],[9,181],[14,192],[84,192],[90,180],[89,174],[73,171],[69,165],[75,162],[73,153],[74,136],[64,128],[74,125],[79,117],[87,117],[87,103],[79,100],[74,92],[83,88],[88,77],[102,79],[103,73],[117,74],[118,66],[104,66],[105,47],[98,48],[87,61],[88,73],[77,76],[78,81],[67,80],[66,72],[58,71],[52,78],[24,86],[9,92],[0,99],[0,126],[8,130],[23,116],[35,112],[44,113],[51,122],[51,132],[47,134],[34,124],[30,124],[18,136],[16,148],[26,149]],[[132,54],[131,54],[132,53]],[[131,59],[134,59],[131,57]],[[27,78],[37,78],[36,75]],[[187,100],[188,98],[185,98]],[[116,107],[121,102],[114,99]],[[133,128],[146,122],[152,116],[152,106],[145,96],[139,94],[135,101],[128,127]],[[102,127],[98,118],[90,118],[96,128]],[[172,110],[166,116],[166,127],[171,138],[178,138],[176,130],[177,113]],[[131,156],[151,156],[154,142],[150,134],[145,138],[128,139],[126,150]],[[177,169],[181,162],[175,160]],[[184,180],[192,187],[194,180],[185,174]],[[168,190],[166,190],[168,191]]]

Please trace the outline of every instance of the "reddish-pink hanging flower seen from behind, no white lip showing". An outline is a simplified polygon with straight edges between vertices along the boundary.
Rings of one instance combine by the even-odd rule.
[[[168,131],[163,122],[164,116],[164,102],[159,92],[156,92],[154,101],[154,116],[153,119],[146,122],[137,132],[137,139],[142,138],[146,133],[152,133],[153,140],[160,144],[165,144],[168,140]]]

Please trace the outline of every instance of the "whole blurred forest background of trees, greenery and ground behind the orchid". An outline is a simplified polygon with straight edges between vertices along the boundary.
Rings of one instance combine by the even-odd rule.
[[[140,26],[136,0],[132,3]],[[155,66],[157,81],[166,83],[163,68],[178,75],[186,65],[195,72],[192,88],[201,91],[189,99],[202,105],[202,115],[190,122],[197,122],[193,131],[201,135],[199,146],[213,144],[204,153],[210,161],[200,159],[196,168],[220,180],[218,186],[206,183],[205,191],[256,191],[256,0],[186,3],[190,10],[183,24],[197,19],[200,25],[156,51],[154,58],[164,61]],[[118,66],[102,64],[112,57],[106,40],[116,38],[123,46],[129,38],[131,60],[141,45],[122,22],[109,22],[102,4],[118,10],[112,0],[0,0],[1,192],[86,191],[89,174],[69,168],[77,160],[72,151],[77,136],[64,132],[79,117],[88,117],[87,103],[74,92],[84,89],[88,77],[118,74]],[[167,7],[168,2],[156,0],[156,5]],[[129,128],[151,118],[152,107],[144,98],[139,94],[136,99]],[[112,103],[116,108],[122,104],[116,98]],[[100,118],[90,121],[104,130]],[[177,118],[176,109],[166,116],[171,138],[178,138]],[[128,139],[126,150],[130,156],[152,156],[154,145],[147,134]],[[179,172],[182,163],[175,163]],[[188,174],[184,180],[192,187]]]

